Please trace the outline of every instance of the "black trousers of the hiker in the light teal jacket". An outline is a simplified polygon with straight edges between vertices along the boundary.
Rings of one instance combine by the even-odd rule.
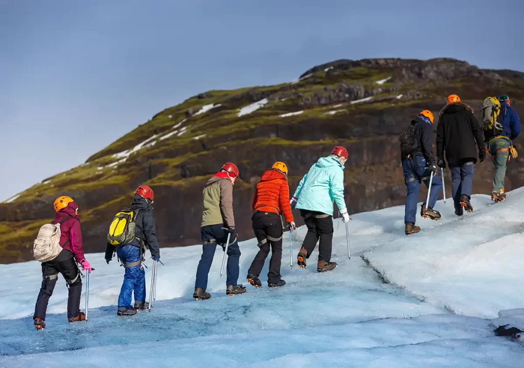
[[[300,215],[304,219],[308,228],[305,234],[302,248],[308,251],[308,258],[315,249],[316,242],[319,241],[319,261],[329,262],[333,248],[333,216],[316,211],[300,210]]]

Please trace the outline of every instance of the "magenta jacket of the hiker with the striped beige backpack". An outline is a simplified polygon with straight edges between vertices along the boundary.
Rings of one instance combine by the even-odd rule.
[[[70,202],[66,208],[57,212],[53,220],[53,224],[57,224],[64,217],[72,216],[72,218],[65,220],[60,225],[60,245],[65,250],[74,254],[74,258],[78,263],[85,259],[84,250],[82,248],[82,233],[80,232],[80,219],[75,214],[78,208],[77,203]]]

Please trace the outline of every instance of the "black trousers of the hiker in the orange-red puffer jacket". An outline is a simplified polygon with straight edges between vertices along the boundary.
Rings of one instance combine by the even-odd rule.
[[[282,220],[278,214],[272,212],[255,212],[251,220],[260,250],[253,259],[247,274],[260,276],[271,246],[267,282],[268,284],[276,283],[280,280],[280,263],[282,261]]]

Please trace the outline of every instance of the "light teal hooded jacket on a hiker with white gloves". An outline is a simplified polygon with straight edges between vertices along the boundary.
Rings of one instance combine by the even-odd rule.
[[[333,215],[333,201],[339,210],[344,201],[344,166],[336,156],[321,157],[304,175],[294,193],[296,208]]]

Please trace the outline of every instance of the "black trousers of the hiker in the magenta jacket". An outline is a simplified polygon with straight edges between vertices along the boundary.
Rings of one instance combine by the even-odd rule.
[[[46,320],[47,304],[57,284],[58,274],[62,274],[69,287],[67,301],[68,318],[77,317],[80,313],[80,296],[82,294],[82,279],[73,253],[62,250],[52,261],[42,263],[42,286],[35,306],[33,318]]]

